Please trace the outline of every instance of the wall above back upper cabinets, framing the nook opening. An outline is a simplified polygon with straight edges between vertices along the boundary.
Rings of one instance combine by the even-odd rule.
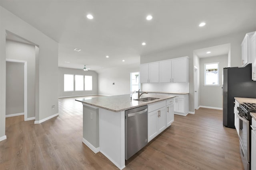
[[[194,112],[194,50],[203,49],[206,47],[213,47],[230,43],[231,66],[241,66],[241,42],[244,35],[254,30],[244,30],[238,33],[225,35],[222,37],[214,37],[205,41],[194,42],[171,49],[163,49],[162,51],[155,51],[154,53],[140,56],[140,63],[150,63],[155,61],[162,61],[167,59],[174,59],[178,57],[189,57],[189,111]]]

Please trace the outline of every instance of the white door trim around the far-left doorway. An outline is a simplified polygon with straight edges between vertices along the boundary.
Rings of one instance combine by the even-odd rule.
[[[24,121],[28,120],[28,73],[27,61],[6,59],[8,62],[24,63]]]

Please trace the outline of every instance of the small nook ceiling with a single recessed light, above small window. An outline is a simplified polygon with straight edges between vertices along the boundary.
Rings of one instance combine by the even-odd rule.
[[[229,50],[230,50],[230,44],[228,43],[223,45],[217,45],[214,47],[194,50],[194,54],[196,54],[197,57],[199,58],[214,57],[214,56],[220,56],[220,55],[228,55]],[[207,53],[207,52],[211,52],[211,53]]]

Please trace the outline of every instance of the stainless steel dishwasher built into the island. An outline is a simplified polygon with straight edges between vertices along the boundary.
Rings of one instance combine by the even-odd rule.
[[[125,159],[148,144],[148,106],[125,111]]]

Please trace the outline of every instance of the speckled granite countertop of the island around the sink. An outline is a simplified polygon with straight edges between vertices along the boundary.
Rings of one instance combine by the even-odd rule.
[[[148,102],[141,102],[136,100],[131,100],[131,94],[124,94],[124,95],[118,95],[118,96],[103,96],[98,98],[81,98],[76,99],[78,102],[82,102],[82,104],[88,104],[91,106],[99,107],[102,109],[114,111],[114,112],[120,112],[128,109],[133,109],[140,106],[145,106],[148,104],[160,102],[166,99],[174,98],[176,96],[167,96],[167,95],[153,95],[153,94],[142,94],[140,98],[146,98],[146,97],[152,97],[152,98],[159,98],[156,100],[148,101]],[[137,94],[132,95],[132,99],[137,99]]]

